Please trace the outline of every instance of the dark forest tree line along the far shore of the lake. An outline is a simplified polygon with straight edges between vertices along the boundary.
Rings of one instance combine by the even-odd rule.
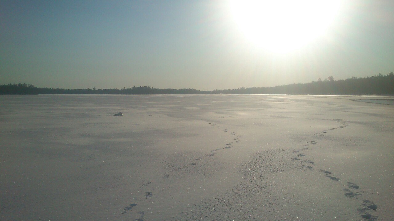
[[[275,87],[252,87],[227,90],[196,89],[159,89],[150,86],[139,86],[122,89],[63,89],[38,88],[30,84],[0,85],[0,94],[323,94],[323,95],[394,95],[394,74],[378,74],[372,77],[351,77],[345,80],[334,80],[333,76],[324,81],[311,83],[281,85]]]

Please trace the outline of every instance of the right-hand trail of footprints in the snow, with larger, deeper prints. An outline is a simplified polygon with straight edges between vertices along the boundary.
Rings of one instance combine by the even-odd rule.
[[[346,122],[342,122],[340,119],[337,119],[337,121],[340,121],[342,126],[340,127],[335,127],[335,128],[331,128],[329,129],[329,131],[335,130],[335,129],[340,129],[340,128],[345,128],[346,126],[348,126],[348,123]],[[327,130],[323,130],[321,133],[316,133],[312,136],[312,138],[317,138],[317,140],[322,140],[324,134],[327,133]],[[301,148],[300,150],[296,150],[294,151],[294,157],[292,157],[292,160],[299,160],[301,167],[303,168],[307,168],[310,170],[313,170],[315,164],[312,160],[307,160],[304,159],[306,157],[305,153],[302,153],[302,150],[307,150],[309,149],[308,146],[310,144],[314,145],[317,144],[317,140],[311,140],[310,142],[307,142],[305,145],[303,145],[303,148]],[[325,171],[324,169],[319,169],[319,172],[322,173],[325,177],[334,180],[334,181],[339,181],[341,180],[338,177],[335,177],[334,174],[330,171]],[[361,190],[360,187],[353,183],[353,182],[347,182],[347,188],[344,188],[344,195],[346,197],[350,197],[350,198],[357,198],[357,195],[361,195]],[[368,221],[373,221],[377,219],[376,215],[373,215],[374,210],[377,210],[377,205],[370,201],[370,200],[363,200],[362,203],[362,208],[357,209],[358,212],[361,214],[361,217],[364,220],[368,220]]]

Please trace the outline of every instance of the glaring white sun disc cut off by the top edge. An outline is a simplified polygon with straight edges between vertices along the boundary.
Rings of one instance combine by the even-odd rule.
[[[255,46],[276,53],[326,35],[340,8],[340,0],[230,0],[238,31]]]

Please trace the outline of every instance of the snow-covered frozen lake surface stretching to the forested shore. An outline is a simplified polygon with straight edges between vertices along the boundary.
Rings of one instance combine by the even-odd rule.
[[[0,96],[0,219],[392,220],[394,106],[351,99]]]

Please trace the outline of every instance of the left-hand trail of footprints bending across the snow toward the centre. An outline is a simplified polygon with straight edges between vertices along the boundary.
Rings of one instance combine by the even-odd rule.
[[[216,123],[208,123],[208,124],[211,125],[212,127],[216,127],[217,129],[221,129],[221,127],[218,126]],[[228,132],[229,130],[228,130],[228,129],[223,129],[223,131],[224,131],[224,132]],[[225,149],[230,149],[230,148],[234,147],[234,144],[237,144],[237,143],[240,143],[240,142],[241,142],[242,136],[239,136],[239,135],[237,136],[237,135],[236,135],[237,133],[235,133],[235,132],[230,132],[230,134],[231,134],[231,136],[234,136],[234,138],[233,138],[234,141],[233,141],[233,142],[229,142],[229,143],[227,143],[227,144],[224,144],[224,147],[220,147],[220,148],[217,148],[217,149],[213,149],[213,150],[211,150],[209,153],[207,153],[207,154],[206,154],[205,156],[203,156],[203,157],[195,158],[195,161],[196,161],[196,162],[192,162],[192,163],[190,163],[190,165],[191,165],[191,166],[197,165],[197,161],[198,161],[198,160],[201,160],[201,159],[203,159],[204,157],[214,156],[214,155],[216,154],[216,151],[225,150]],[[181,168],[178,168],[178,169],[181,169]],[[164,175],[163,175],[163,178],[168,178],[168,177],[170,177],[170,174],[164,174]],[[142,184],[141,186],[148,186],[148,185],[151,184],[151,183],[152,183],[152,182],[146,182],[146,183]],[[148,191],[148,192],[144,192],[144,195],[145,195],[146,198],[149,198],[149,197],[152,197],[152,196],[153,196],[153,193]],[[123,211],[122,211],[121,213],[122,213],[122,214],[125,214],[126,212],[131,211],[131,210],[133,209],[133,207],[135,207],[135,206],[137,206],[136,203],[131,203],[131,204],[129,204],[128,206],[124,207],[124,208],[123,208]],[[137,219],[134,219],[134,221],[143,221],[143,220],[144,220],[144,219],[143,219],[144,212],[143,212],[143,211],[138,212],[138,215],[139,215],[139,217],[138,217]]]

